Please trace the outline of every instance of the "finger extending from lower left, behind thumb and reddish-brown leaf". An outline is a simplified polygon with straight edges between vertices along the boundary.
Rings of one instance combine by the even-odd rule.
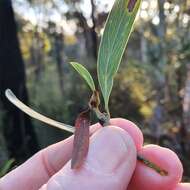
[[[100,126],[91,127],[91,134]],[[73,136],[40,151],[24,164],[0,179],[1,190],[36,190],[71,158]],[[20,180],[22,179],[22,180]]]

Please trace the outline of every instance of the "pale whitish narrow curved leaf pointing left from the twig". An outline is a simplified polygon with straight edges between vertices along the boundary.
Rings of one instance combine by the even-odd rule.
[[[27,115],[29,115],[39,121],[47,123],[51,126],[57,127],[59,129],[63,129],[65,131],[68,131],[71,133],[74,132],[74,127],[64,124],[64,123],[61,123],[61,122],[58,122],[58,121],[55,121],[53,119],[50,119],[50,118],[34,111],[33,109],[29,108],[27,105],[25,105],[23,102],[21,102],[10,89],[7,89],[5,91],[5,95],[11,103],[13,103],[17,108],[19,108],[21,111],[23,111]]]

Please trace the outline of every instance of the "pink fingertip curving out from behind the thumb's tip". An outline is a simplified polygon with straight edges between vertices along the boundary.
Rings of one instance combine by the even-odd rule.
[[[133,138],[137,150],[140,150],[143,146],[143,134],[141,130],[131,121],[123,118],[113,118],[111,119],[111,124],[118,126],[129,133]]]

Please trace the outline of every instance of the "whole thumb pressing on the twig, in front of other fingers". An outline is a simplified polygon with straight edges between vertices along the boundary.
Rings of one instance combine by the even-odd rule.
[[[72,170],[70,165],[69,161],[41,190],[126,190],[136,165],[136,148],[126,131],[105,127],[91,137],[83,166]]]

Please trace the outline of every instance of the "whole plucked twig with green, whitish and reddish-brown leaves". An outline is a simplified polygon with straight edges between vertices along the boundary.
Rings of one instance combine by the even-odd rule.
[[[71,161],[72,169],[80,168],[88,153],[90,113],[95,113],[102,126],[105,127],[109,125],[109,97],[112,91],[114,77],[121,63],[140,4],[141,0],[115,0],[106,22],[97,61],[98,82],[104,99],[105,112],[101,112],[99,109],[100,95],[95,87],[91,74],[84,66],[75,62],[71,63],[72,67],[81,75],[92,91],[92,96],[88,102],[88,108],[77,117],[75,128],[54,121],[31,110],[28,106],[19,101],[11,90],[6,91],[8,99],[25,113],[55,127],[74,132],[74,146]],[[168,175],[167,171],[141,155],[137,155],[137,159],[154,169],[160,175]]]

